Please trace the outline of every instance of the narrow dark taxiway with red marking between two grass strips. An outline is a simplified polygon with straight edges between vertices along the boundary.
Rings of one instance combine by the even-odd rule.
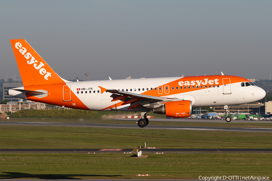
[[[272,153],[272,148],[250,148],[250,149],[204,149],[204,148],[134,148],[134,149],[0,149],[0,153],[131,153],[136,154],[136,149],[142,150],[142,153]]]

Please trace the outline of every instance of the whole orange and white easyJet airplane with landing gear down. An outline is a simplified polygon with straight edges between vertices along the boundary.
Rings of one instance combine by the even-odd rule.
[[[182,76],[71,82],[61,78],[26,40],[10,40],[23,87],[8,95],[81,110],[141,111],[138,126],[149,121],[146,113],[173,118],[192,115],[192,107],[228,106],[261,100],[266,92],[246,78],[232,75]]]

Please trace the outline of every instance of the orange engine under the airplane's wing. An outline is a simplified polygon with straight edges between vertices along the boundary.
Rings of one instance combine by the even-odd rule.
[[[192,115],[192,101],[179,100],[164,103],[163,106],[153,109],[154,113],[165,114],[173,118],[186,118]]]

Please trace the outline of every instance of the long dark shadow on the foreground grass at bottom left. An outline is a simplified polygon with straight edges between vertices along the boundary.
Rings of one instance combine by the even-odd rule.
[[[1,174],[2,173],[2,174]],[[3,174],[5,173],[5,174]],[[30,179],[80,179],[73,177],[106,177],[115,178],[123,175],[85,175],[85,174],[29,174],[20,172],[0,172],[0,179],[19,179],[19,178],[30,178]]]

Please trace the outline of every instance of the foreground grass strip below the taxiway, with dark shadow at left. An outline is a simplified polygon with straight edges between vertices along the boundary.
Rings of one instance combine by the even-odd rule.
[[[1,154],[0,179],[198,179],[269,176],[271,154]]]

